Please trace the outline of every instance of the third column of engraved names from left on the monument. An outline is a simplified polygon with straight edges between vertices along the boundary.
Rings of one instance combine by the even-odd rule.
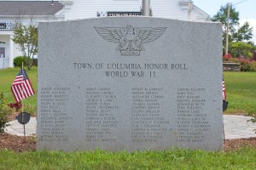
[[[161,116],[162,88],[131,89],[131,141],[157,142],[168,131],[168,120]]]

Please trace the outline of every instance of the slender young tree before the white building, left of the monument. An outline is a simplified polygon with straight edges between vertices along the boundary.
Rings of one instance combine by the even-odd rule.
[[[34,56],[38,54],[38,33],[36,26],[24,26],[17,23],[12,40],[20,46],[23,56],[26,58],[27,69],[32,67]]]

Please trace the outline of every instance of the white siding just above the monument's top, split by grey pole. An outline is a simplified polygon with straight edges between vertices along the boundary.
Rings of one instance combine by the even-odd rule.
[[[181,0],[151,0],[150,6],[154,17],[189,20],[189,10],[183,10]],[[72,2],[69,0],[69,2]],[[191,3],[190,0],[187,1]],[[65,0],[61,3],[65,4]],[[95,18],[97,12],[109,11],[127,12],[140,11],[142,0],[73,0],[73,4],[66,8],[65,20]]]

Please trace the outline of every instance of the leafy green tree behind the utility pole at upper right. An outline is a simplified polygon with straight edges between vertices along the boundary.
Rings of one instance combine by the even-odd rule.
[[[227,12],[228,4],[226,4],[225,6],[221,6],[218,13],[212,17],[212,21],[218,21],[223,24],[223,44],[225,44],[226,42]],[[230,6],[229,23],[229,42],[243,42],[252,39],[253,28],[250,27],[248,22],[245,22],[243,26],[240,26],[239,12],[236,11],[236,8],[232,6]]]

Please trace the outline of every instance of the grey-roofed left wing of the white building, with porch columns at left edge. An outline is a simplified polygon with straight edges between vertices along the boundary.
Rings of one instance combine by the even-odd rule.
[[[39,21],[64,20],[59,14],[64,6],[61,3],[43,1],[0,1],[0,69],[13,67],[13,59],[22,55],[12,38],[15,23],[38,24]]]

